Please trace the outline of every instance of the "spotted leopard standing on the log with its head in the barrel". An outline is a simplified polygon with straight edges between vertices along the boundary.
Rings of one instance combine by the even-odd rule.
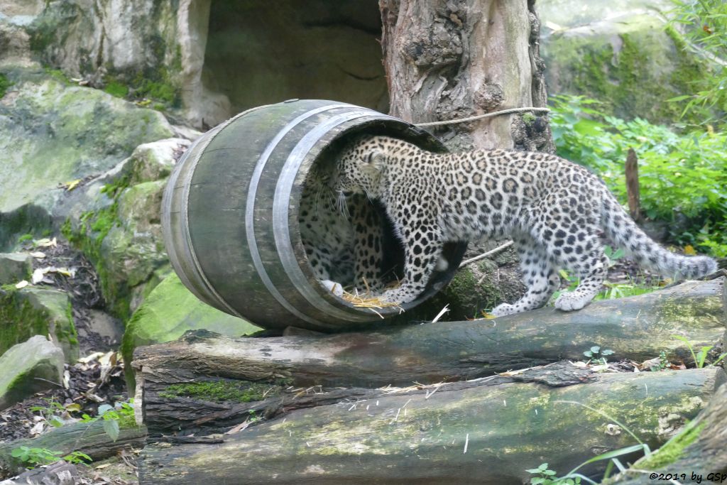
[[[430,153],[391,137],[364,136],[343,151],[334,190],[379,199],[406,252],[403,281],[385,300],[409,302],[422,292],[446,241],[510,236],[526,294],[496,316],[545,305],[558,268],[581,278],[555,307],[577,310],[606,277],[601,236],[664,276],[712,273],[709,257],[684,257],[656,244],[624,212],[606,185],[558,156],[504,150]]]

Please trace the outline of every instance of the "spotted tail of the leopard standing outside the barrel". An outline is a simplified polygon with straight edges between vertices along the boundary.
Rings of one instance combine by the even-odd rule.
[[[607,190],[603,191],[602,201],[601,227],[606,238],[624,249],[643,268],[676,279],[701,278],[717,270],[717,262],[711,257],[682,256],[659,246],[641,231]]]

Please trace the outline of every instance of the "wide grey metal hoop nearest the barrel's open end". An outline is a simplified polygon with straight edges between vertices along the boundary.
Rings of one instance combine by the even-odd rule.
[[[305,277],[305,274],[303,274],[300,269],[300,264],[295,257],[293,244],[290,239],[289,201],[300,165],[313,146],[316,145],[316,143],[318,143],[331,129],[344,124],[347,121],[364,117],[396,120],[395,118],[382,115],[376,111],[360,108],[358,111],[342,113],[334,116],[311,129],[310,132],[306,133],[300,139],[297,145],[295,145],[290,152],[288,159],[281,170],[281,174],[278,177],[278,185],[276,186],[275,197],[273,199],[273,234],[275,235],[276,249],[278,257],[280,257],[281,263],[285,268],[285,273],[290,278],[290,281],[292,281],[293,286],[298,290],[298,292],[300,292],[300,294],[302,294],[305,300],[310,302],[311,305],[316,308],[320,308],[328,315],[341,318],[346,321],[357,322],[369,321],[371,318],[370,316],[363,314],[353,315],[324,300],[324,298],[321,297],[321,295],[318,294],[312,286],[310,286],[310,281],[308,281],[308,278]]]

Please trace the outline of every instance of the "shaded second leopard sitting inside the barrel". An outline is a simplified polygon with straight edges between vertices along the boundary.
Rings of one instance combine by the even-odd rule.
[[[379,292],[384,286],[379,214],[364,196],[346,204],[342,214],[329,181],[326,164],[320,164],[303,185],[298,224],[308,263],[316,278],[339,296],[347,286]]]

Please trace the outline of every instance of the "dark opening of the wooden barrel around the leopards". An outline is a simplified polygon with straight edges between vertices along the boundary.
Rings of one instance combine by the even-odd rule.
[[[334,172],[337,157],[352,137],[361,134],[386,135],[399,137],[410,143],[415,143],[430,151],[446,151],[443,145],[429,133],[412,127],[409,124],[397,122],[395,124],[387,121],[374,121],[369,124],[359,124],[352,129],[337,134],[327,141],[326,146],[316,156],[308,167],[305,175],[299,205],[299,224],[302,244],[305,247],[305,262],[308,262],[313,275],[321,281],[321,257],[329,259],[328,267],[324,272],[329,275],[330,280],[341,284],[347,292],[366,292],[366,286],[361,281],[356,281],[355,265],[355,241],[354,234],[361,232],[360,225],[368,225],[376,228],[375,231],[366,233],[381,234],[382,264],[379,266],[379,281],[384,286],[394,285],[403,276],[404,251],[401,239],[395,233],[392,223],[386,216],[385,207],[379,201],[371,201],[366,196],[354,196],[347,199],[347,213],[341,212],[337,207],[336,196],[326,185],[330,175]],[[321,231],[326,224],[311,228],[313,214],[316,214],[316,223],[327,223],[327,227],[335,227],[334,231]],[[328,218],[327,221],[324,219]],[[359,225],[359,227],[356,227]],[[340,241],[343,244],[340,244]],[[341,250],[344,247],[345,249]],[[448,244],[444,249],[443,257],[449,268],[436,271],[425,292],[417,300],[403,305],[405,309],[419,304],[431,294],[438,291],[451,278],[454,269],[459,265],[462,258],[462,244]],[[454,268],[452,268],[454,266]],[[321,289],[328,292],[328,286],[321,281]],[[377,292],[372,292],[377,294]],[[330,294],[332,297],[333,295]],[[340,302],[345,302],[337,298]],[[348,302],[345,302],[348,305]],[[393,312],[393,310],[391,310]],[[388,313],[388,312],[385,312]]]

